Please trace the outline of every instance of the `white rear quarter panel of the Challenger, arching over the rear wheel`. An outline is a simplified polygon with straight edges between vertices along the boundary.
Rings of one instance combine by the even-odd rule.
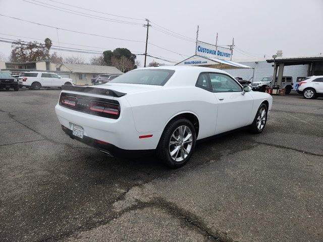
[[[175,87],[125,96],[132,107],[138,132],[163,131],[168,122],[180,113],[193,113],[199,120],[198,139],[215,132],[216,98],[201,88]]]

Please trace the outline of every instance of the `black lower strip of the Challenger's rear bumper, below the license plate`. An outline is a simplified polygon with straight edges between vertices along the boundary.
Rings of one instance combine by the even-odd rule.
[[[144,157],[154,154],[155,150],[125,150],[121,149],[113,144],[101,144],[97,142],[95,139],[92,139],[90,137],[84,136],[83,139],[78,138],[73,135],[72,130],[64,127],[62,125],[62,130],[67,134],[71,139],[75,139],[77,141],[80,141],[88,146],[91,146],[93,148],[96,148],[100,150],[101,152],[109,155],[109,156],[117,156],[117,157],[123,157],[123,158],[135,158],[135,157]]]

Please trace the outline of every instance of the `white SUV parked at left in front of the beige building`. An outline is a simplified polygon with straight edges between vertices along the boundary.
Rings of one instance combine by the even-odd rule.
[[[25,72],[19,77],[19,85],[33,90],[39,90],[41,87],[62,87],[62,85],[72,84],[72,79],[62,78],[51,72]]]

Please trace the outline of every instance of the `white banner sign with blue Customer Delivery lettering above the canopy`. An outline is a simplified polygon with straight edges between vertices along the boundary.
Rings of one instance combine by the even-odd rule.
[[[231,59],[231,49],[219,47],[204,42],[196,42],[196,54],[217,59]]]

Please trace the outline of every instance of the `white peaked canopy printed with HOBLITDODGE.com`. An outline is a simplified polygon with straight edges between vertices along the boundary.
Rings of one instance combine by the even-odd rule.
[[[187,59],[184,59],[184,61],[177,63],[178,66],[203,66],[203,67],[210,67],[210,68],[216,68],[221,70],[226,69],[239,69],[239,68],[248,68],[252,69],[252,67],[242,65],[240,63],[236,63],[233,61],[226,61],[224,59],[217,59],[217,58],[211,58],[201,55],[193,55]],[[175,66],[176,66],[175,65]]]

